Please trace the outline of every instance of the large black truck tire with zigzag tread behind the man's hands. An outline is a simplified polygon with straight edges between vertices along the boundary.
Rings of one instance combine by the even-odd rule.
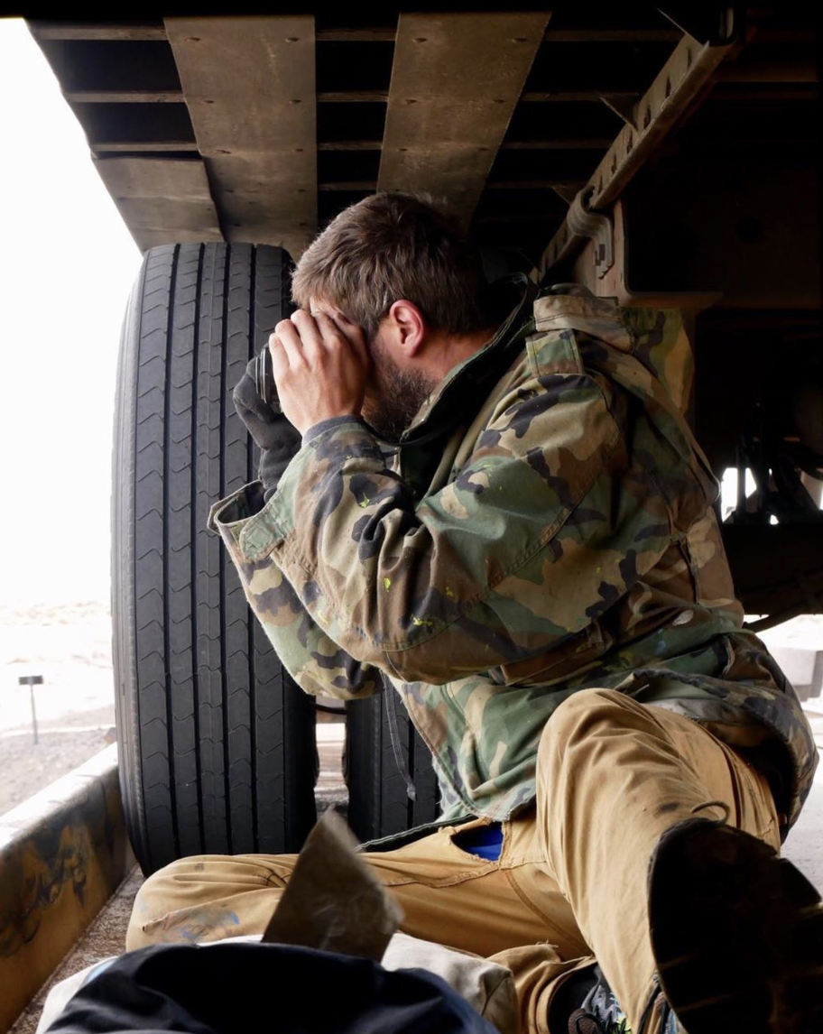
[[[113,455],[120,781],[149,874],[199,853],[291,852],[311,828],[314,708],[252,616],[213,503],[256,477],[231,393],[287,315],[287,256],[152,248],[123,325]]]

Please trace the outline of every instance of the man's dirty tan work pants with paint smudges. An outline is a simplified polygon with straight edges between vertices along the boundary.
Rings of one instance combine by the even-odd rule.
[[[742,756],[690,719],[584,690],[547,724],[536,807],[504,823],[497,861],[459,846],[461,830],[484,820],[362,857],[401,905],[405,933],[511,968],[524,1032],[558,1034],[547,1023],[552,995],[593,959],[637,1032],[654,991],[649,857],[670,826],[695,813],[720,819],[726,809],[730,823],[779,847],[768,786]],[[173,862],[141,888],[127,947],[261,933],[295,859]],[[657,1022],[656,1013],[648,1034]]]

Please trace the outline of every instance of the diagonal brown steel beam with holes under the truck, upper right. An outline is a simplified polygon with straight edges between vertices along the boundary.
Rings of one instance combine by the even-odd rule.
[[[695,104],[733,44],[710,47],[684,36],[648,91],[634,107],[627,124],[603,156],[583,188],[590,210],[607,209],[645,164],[653,151]],[[554,266],[570,258],[583,244],[568,219],[543,252],[531,278],[541,282]]]

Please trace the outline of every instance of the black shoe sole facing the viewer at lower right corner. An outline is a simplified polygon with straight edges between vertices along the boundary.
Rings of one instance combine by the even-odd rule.
[[[823,1034],[823,907],[791,862],[695,820],[649,871],[661,990],[688,1034]]]

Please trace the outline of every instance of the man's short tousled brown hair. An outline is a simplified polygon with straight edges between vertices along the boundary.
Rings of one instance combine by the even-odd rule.
[[[292,299],[337,306],[371,339],[399,299],[432,330],[470,334],[489,326],[480,252],[422,194],[377,193],[344,209],[298,263]]]

